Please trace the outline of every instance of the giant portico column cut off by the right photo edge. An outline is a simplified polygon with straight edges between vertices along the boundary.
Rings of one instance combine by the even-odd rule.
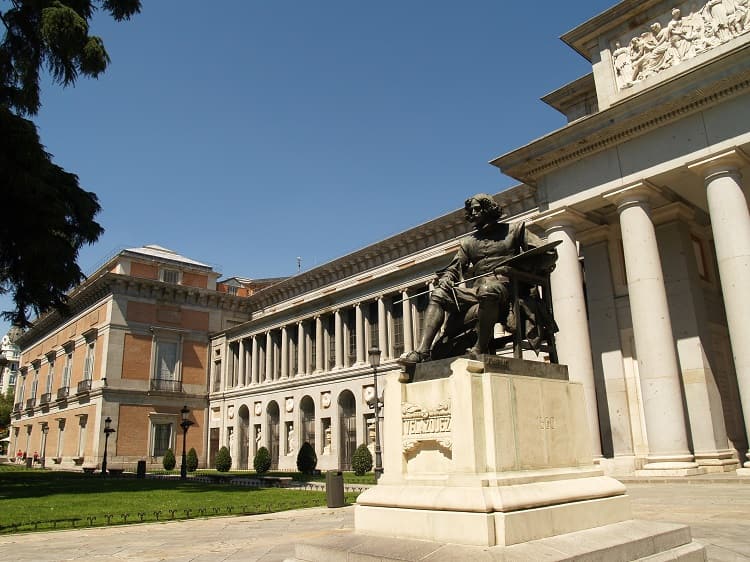
[[[750,435],[750,213],[739,169],[750,160],[738,149],[689,168],[705,178],[721,291],[732,345],[737,386]],[[739,473],[750,474],[750,452]]]

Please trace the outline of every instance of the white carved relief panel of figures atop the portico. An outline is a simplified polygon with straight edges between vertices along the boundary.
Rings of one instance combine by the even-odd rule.
[[[612,64],[621,90],[750,31],[750,0],[685,3],[660,19],[614,42]]]

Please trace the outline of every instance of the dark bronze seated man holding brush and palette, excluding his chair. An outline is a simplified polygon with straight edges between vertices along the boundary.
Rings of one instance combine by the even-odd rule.
[[[479,193],[470,197],[464,203],[464,210],[466,220],[476,230],[461,240],[453,261],[438,272],[425,311],[422,339],[417,349],[399,358],[402,364],[425,361],[431,354],[435,358],[435,340],[444,322],[449,335],[475,324],[475,330],[470,330],[475,336],[474,343],[469,344],[467,352],[471,356],[487,353],[495,324],[505,324],[509,312],[509,269],[502,265],[503,261],[542,245],[524,223],[511,225],[500,221],[501,208],[490,195]],[[467,277],[474,278],[470,287],[463,285]]]

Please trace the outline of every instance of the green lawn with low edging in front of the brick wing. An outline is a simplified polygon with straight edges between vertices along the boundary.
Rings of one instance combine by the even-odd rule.
[[[288,476],[289,474],[287,474]],[[356,493],[347,493],[353,503]],[[325,506],[324,492],[0,466],[0,533]],[[78,521],[73,522],[72,519]]]

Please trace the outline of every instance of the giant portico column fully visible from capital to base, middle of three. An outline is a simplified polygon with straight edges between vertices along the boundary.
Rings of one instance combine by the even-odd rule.
[[[649,454],[645,474],[700,472],[688,450],[680,370],[675,353],[667,292],[645,183],[615,190],[605,198],[617,205],[625,270],[638,352]]]

